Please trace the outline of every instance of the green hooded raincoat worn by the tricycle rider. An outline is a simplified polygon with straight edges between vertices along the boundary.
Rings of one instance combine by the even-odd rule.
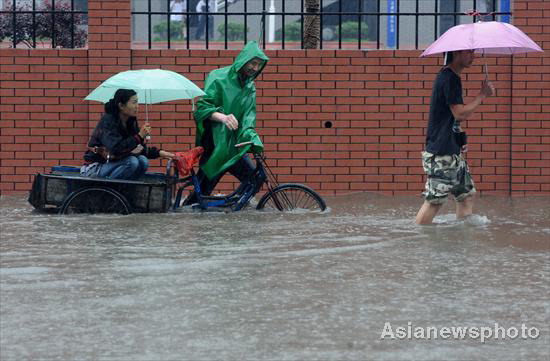
[[[264,60],[264,64],[254,76],[243,81],[239,76],[239,70],[253,58]],[[262,141],[256,133],[254,79],[260,75],[268,60],[258,43],[251,41],[237,55],[233,65],[213,70],[206,78],[206,95],[197,102],[197,109],[193,115],[197,124],[197,146],[204,143],[206,122],[210,122],[212,127],[214,150],[208,161],[201,166],[210,179],[235,164],[250,147],[253,147],[254,151],[263,149]],[[222,123],[210,121],[209,118],[214,112],[233,114],[239,121],[239,128],[231,130]],[[248,141],[251,141],[252,145],[235,147],[235,144]]]

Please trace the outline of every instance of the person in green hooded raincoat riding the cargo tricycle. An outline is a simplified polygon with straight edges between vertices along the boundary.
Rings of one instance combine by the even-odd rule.
[[[256,41],[246,44],[231,66],[213,70],[205,81],[205,96],[197,102],[193,116],[197,126],[196,145],[204,148],[198,176],[203,195],[209,195],[229,172],[241,181],[263,184],[265,174],[256,174],[247,156],[263,150],[256,133],[256,79],[269,58]],[[247,143],[236,147],[235,145]],[[259,190],[259,189],[258,189]],[[257,192],[257,190],[256,190]],[[194,194],[185,204],[196,203]]]

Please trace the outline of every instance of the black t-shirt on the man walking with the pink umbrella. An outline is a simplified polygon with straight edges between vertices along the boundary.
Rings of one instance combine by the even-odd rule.
[[[445,68],[435,78],[430,102],[430,119],[426,134],[426,151],[437,154],[460,154],[453,125],[455,120],[451,105],[464,104],[462,100],[462,82],[460,77],[449,68]]]

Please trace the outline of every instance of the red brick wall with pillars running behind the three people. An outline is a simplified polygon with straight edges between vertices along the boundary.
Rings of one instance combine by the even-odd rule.
[[[516,0],[513,23],[550,49],[550,2]],[[26,192],[33,174],[78,165],[102,105],[83,98],[110,75],[161,67],[199,86],[237,51],[132,50],[130,0],[89,1],[89,48],[0,49],[0,191]],[[278,50],[256,82],[258,131],[283,182],[323,194],[419,193],[432,81],[441,59],[419,51]],[[477,188],[550,194],[550,56],[488,57],[497,95],[466,123]],[[482,61],[463,75],[466,101],[480,87]],[[141,106],[144,116],[144,105]],[[149,107],[152,142],[185,150],[194,142],[189,101]],[[325,123],[332,127],[326,128]],[[155,170],[160,161],[153,162]],[[231,188],[229,178],[220,186]]]

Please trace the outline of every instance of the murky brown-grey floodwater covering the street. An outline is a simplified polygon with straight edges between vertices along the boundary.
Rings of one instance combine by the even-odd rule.
[[[465,221],[449,202],[416,226],[421,202],[61,217],[4,196],[0,359],[550,359],[550,198],[479,197]],[[409,322],[519,336],[383,334]]]

